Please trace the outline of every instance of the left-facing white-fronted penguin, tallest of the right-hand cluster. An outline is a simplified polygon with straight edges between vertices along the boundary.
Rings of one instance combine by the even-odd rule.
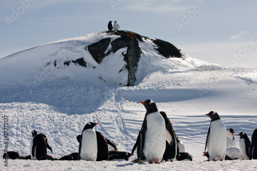
[[[217,112],[210,111],[206,115],[211,118],[211,123],[206,138],[205,151],[207,147],[212,161],[215,159],[223,161],[226,157],[227,146],[226,127]]]

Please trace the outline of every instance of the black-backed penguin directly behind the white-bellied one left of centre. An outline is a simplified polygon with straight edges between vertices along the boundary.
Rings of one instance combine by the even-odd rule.
[[[96,131],[97,137],[97,158],[96,161],[108,160],[109,149],[105,137],[98,131]]]

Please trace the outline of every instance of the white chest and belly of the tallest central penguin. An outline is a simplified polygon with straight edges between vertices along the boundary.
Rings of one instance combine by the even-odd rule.
[[[144,140],[144,156],[146,161],[159,162],[166,148],[166,126],[159,112],[146,116],[147,130]]]

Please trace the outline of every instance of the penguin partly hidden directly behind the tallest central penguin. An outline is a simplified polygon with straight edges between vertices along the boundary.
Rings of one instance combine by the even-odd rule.
[[[168,118],[166,112],[160,111],[160,115],[163,117],[166,125],[166,149],[163,154],[162,160],[164,161],[176,161],[176,155],[178,154],[178,141],[173,129],[171,120]]]

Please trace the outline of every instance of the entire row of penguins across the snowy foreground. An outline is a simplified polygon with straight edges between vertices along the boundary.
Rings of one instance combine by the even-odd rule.
[[[185,146],[178,140],[167,114],[158,111],[156,103],[150,99],[140,101],[140,103],[144,105],[146,113],[132,153],[119,151],[112,140],[106,139],[99,131],[93,129],[98,123],[89,122],[84,126],[81,135],[77,136],[79,153],[71,153],[60,159],[54,159],[47,155],[47,148],[52,152],[47,137],[33,130],[29,156],[21,157],[15,151],[8,151],[3,158],[86,161],[128,160],[135,152],[137,159],[132,162],[139,164],[176,160],[193,161],[193,157],[185,152]],[[208,161],[257,159],[257,129],[253,131],[251,142],[245,132],[238,134],[240,136],[239,149],[235,147],[233,129],[226,129],[218,113],[210,111],[206,115],[211,118],[204,151],[204,156],[208,158]],[[206,151],[206,148],[208,151]]]

